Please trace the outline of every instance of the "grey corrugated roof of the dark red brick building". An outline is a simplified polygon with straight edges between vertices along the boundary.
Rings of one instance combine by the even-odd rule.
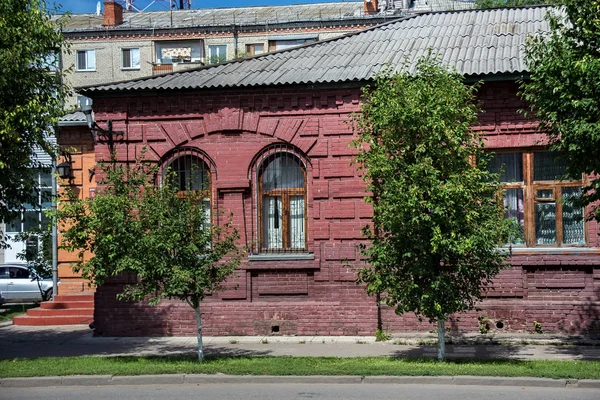
[[[341,38],[253,58],[80,90],[210,89],[363,81],[386,65],[398,71],[429,49],[464,75],[526,71],[523,45],[548,31],[550,7],[439,12],[407,17]]]

